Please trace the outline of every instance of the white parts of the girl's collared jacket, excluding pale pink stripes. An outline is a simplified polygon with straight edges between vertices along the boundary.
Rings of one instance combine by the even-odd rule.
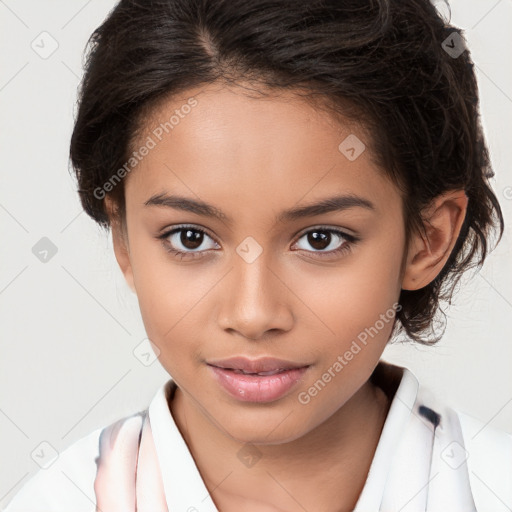
[[[408,368],[380,361],[371,378],[392,402],[356,512],[512,510],[512,435],[440,403]],[[146,410],[76,441],[5,512],[95,512],[102,431],[140,444],[146,417],[168,511],[218,512],[170,413],[175,387],[170,379]]]

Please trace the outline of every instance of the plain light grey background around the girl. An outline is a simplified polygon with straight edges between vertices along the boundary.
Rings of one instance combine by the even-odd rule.
[[[145,408],[168,379],[158,361],[136,357],[147,347],[136,297],[68,172],[82,51],[114,4],[0,0],[0,505],[39,469],[31,454],[48,451],[41,443],[62,451]],[[383,358],[409,367],[452,407],[512,433],[512,0],[451,6],[477,67],[506,232],[462,282],[444,339],[389,346]],[[48,245],[43,237],[57,251],[46,262],[33,252]]]

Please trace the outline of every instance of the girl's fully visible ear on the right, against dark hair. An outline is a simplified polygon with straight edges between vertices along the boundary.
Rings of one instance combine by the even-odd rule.
[[[466,216],[468,198],[464,190],[437,196],[422,212],[427,237],[411,236],[402,278],[403,290],[427,286],[448,261]]]

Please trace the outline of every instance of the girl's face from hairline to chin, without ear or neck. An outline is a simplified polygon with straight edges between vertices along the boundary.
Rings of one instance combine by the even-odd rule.
[[[116,256],[161,364],[233,439],[303,436],[356,394],[389,339],[405,244],[398,190],[369,149],[357,156],[361,130],[291,93],[190,90],[157,109],[139,142],[148,150],[125,180]],[[342,196],[357,200],[305,209]],[[243,377],[209,364],[237,356],[306,369]]]

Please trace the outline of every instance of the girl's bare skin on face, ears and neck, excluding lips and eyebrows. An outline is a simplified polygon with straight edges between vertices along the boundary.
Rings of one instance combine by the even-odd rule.
[[[364,141],[364,131],[290,92],[255,99],[218,84],[191,89],[158,106],[140,143],[191,96],[197,106],[126,177],[125,219],[106,199],[117,261],[159,360],[178,384],[170,410],[222,512],[352,510],[389,409],[368,379],[393,322],[308,404],[298,394],[392,310],[401,289],[435,278],[455,244],[467,197],[451,191],[436,198],[427,212],[428,238],[414,235],[405,247],[398,189],[369,149],[354,161],[338,150],[350,134]],[[206,201],[233,223],[144,206],[163,192]],[[348,192],[370,200],[375,211],[354,207],[276,221],[282,210]],[[157,238],[184,223],[207,235],[191,249],[178,233],[174,248],[203,251],[199,258],[180,260]],[[347,242],[331,234],[326,249],[316,248],[304,232],[322,225],[360,240],[327,257]],[[263,250],[252,263],[236,252],[248,236]],[[205,365],[238,355],[311,367],[284,397],[241,402]],[[237,456],[245,443],[261,454],[251,467]]]

